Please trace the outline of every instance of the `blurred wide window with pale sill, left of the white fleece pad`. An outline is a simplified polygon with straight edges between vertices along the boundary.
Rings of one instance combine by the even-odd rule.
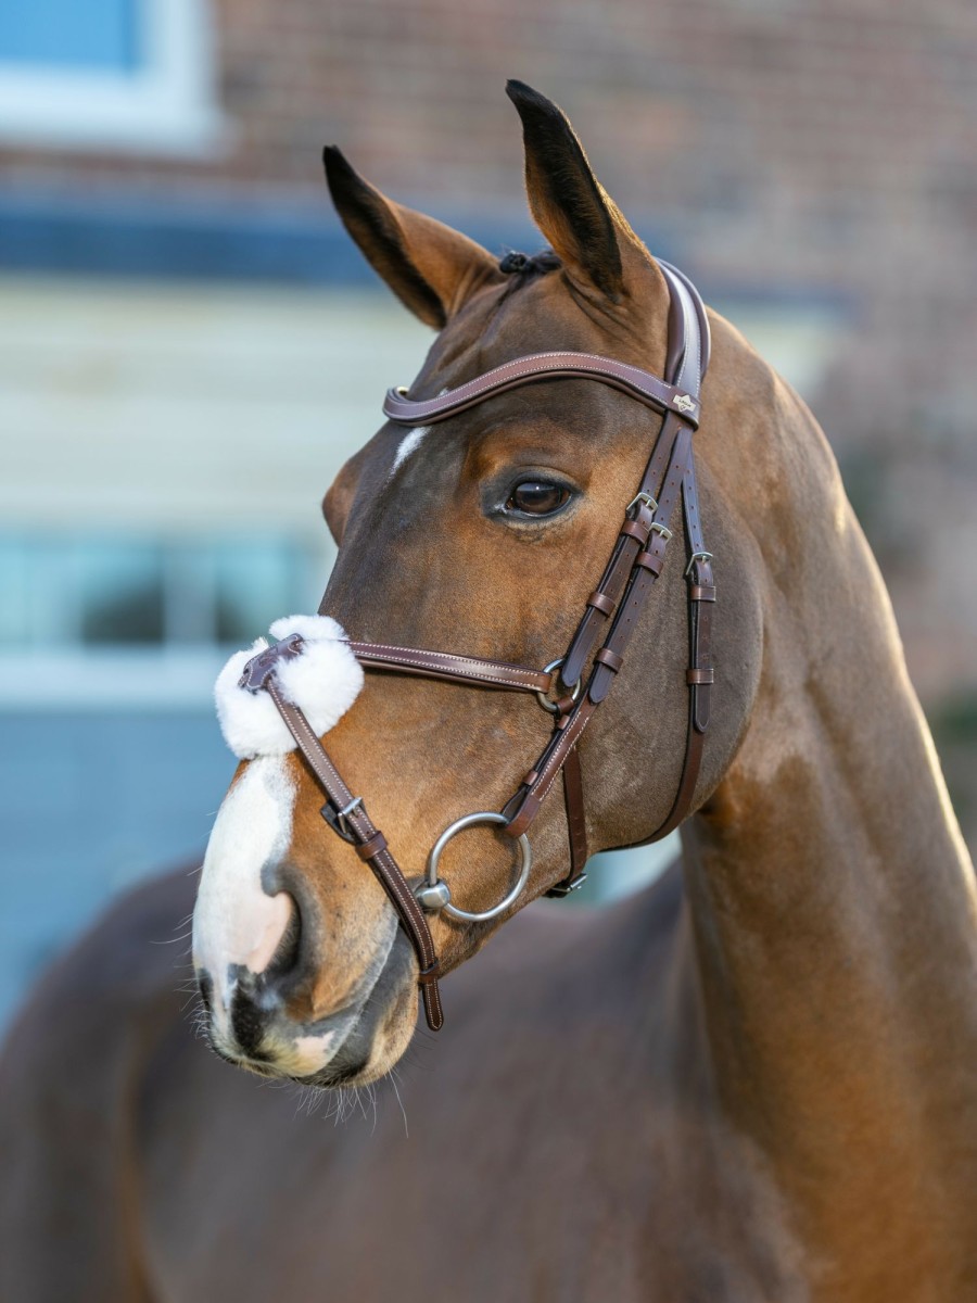
[[[206,706],[228,653],[314,609],[323,575],[274,534],[0,534],[0,708]]]

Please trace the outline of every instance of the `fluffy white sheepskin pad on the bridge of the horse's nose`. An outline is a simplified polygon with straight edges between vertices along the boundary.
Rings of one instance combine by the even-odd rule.
[[[298,706],[317,737],[327,734],[349,710],[363,685],[363,671],[345,641],[345,633],[328,615],[290,615],[271,625],[274,638],[298,633],[302,653],[283,659],[275,678],[283,697]],[[255,638],[246,652],[236,652],[218,675],[214,700],[224,741],[238,760],[284,756],[296,743],[267,692],[240,687],[244,667],[268,646]]]

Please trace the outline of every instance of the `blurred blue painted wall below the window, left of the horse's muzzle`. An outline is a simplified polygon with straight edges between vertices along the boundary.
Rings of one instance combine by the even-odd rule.
[[[0,737],[1,1027],[113,894],[199,864],[236,762],[210,710],[4,714]]]

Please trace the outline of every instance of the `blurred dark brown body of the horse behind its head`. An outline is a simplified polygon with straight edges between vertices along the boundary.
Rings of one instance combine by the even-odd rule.
[[[515,920],[399,1098],[382,1083],[337,1124],[194,1038],[152,945],[193,891],[125,902],[14,1035],[31,1145],[5,1188],[33,1229],[4,1299],[806,1296],[762,1157],[718,1121],[677,868],[598,915]]]

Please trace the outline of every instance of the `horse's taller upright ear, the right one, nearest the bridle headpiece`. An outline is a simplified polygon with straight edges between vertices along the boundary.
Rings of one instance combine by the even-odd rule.
[[[644,245],[604,192],[567,116],[524,82],[505,94],[522,119],[526,194],[533,219],[569,276],[616,300],[625,281],[621,254],[647,261]]]

